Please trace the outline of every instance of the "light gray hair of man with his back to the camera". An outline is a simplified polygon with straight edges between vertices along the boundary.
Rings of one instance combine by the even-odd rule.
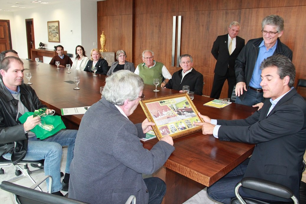
[[[105,82],[102,95],[106,101],[117,106],[122,106],[126,99],[135,100],[144,89],[144,80],[129,70],[114,72],[106,77]]]

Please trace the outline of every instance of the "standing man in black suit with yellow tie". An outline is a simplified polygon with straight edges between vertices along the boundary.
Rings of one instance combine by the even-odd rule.
[[[240,24],[237,21],[231,22],[228,27],[229,33],[219,35],[211,48],[211,54],[217,60],[211,98],[218,99],[220,97],[226,79],[229,86],[228,98],[231,98],[234,85],[236,84],[235,60],[244,47],[244,39],[237,36],[239,30]]]

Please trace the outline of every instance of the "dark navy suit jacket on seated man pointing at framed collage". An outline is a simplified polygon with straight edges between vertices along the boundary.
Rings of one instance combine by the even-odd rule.
[[[289,187],[299,198],[302,161],[306,147],[306,103],[292,89],[271,110],[269,100],[250,117],[217,120],[219,140],[256,144],[244,177],[256,177]],[[259,198],[281,200],[273,195],[243,188]]]

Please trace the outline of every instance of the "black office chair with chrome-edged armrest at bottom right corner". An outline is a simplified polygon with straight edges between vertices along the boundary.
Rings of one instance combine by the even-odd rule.
[[[306,169],[306,163],[303,160],[303,172]],[[252,190],[256,190],[259,192],[267,193],[270,195],[275,195],[280,198],[286,198],[286,199],[292,199],[293,202],[268,202],[268,201],[261,201],[259,199],[253,199],[253,198],[242,198],[239,195],[239,188],[240,187],[249,188]],[[297,200],[297,197],[293,195],[293,192],[288,187],[264,180],[259,178],[253,178],[253,177],[245,177],[243,178],[235,187],[235,195],[236,198],[233,198],[231,200],[231,204],[305,204],[306,203],[306,184],[305,182],[301,181],[300,184],[300,201]]]

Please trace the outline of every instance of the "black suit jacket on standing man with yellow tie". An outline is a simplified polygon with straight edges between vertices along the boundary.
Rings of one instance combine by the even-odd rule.
[[[244,39],[236,36],[236,48],[231,55],[227,41],[228,34],[219,35],[211,48],[211,54],[217,60],[214,72],[220,76],[225,76],[227,68],[229,68],[230,76],[235,76],[235,60],[244,47]]]

